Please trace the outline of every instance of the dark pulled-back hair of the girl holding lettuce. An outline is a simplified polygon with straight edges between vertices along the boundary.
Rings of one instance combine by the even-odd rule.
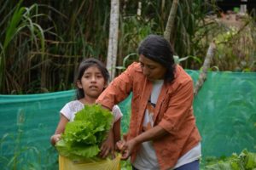
[[[102,72],[102,76],[104,77],[105,82],[108,82],[109,73],[106,66],[103,65],[103,63],[98,59],[89,58],[89,59],[83,59],[79,65],[79,69],[77,71],[77,75],[74,80],[74,84],[76,86],[77,86],[77,82],[81,81],[84,75],[84,71],[86,71],[91,66],[96,66]],[[84,98],[84,90],[83,88],[77,87],[77,99],[82,99],[82,98]]]

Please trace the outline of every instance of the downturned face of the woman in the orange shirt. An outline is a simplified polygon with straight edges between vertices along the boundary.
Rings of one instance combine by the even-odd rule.
[[[139,62],[141,64],[143,75],[148,78],[149,81],[164,79],[166,76],[166,67],[160,65],[152,59],[148,59],[143,54],[139,56]]]

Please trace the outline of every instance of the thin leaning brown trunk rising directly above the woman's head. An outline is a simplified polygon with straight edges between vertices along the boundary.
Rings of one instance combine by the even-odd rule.
[[[170,10],[170,14],[169,14],[168,21],[166,24],[166,30],[164,32],[164,37],[169,42],[173,42],[172,34],[173,34],[173,29],[174,29],[174,21],[175,21],[176,14],[177,14],[177,5],[178,5],[178,0],[173,0],[172,8]]]

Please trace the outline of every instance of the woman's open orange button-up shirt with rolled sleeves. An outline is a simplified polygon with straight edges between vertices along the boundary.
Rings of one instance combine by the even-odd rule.
[[[140,64],[133,63],[109,84],[96,103],[111,109],[132,92],[129,140],[143,133],[143,116],[151,90],[152,82],[144,77]],[[164,83],[155,105],[154,126],[159,125],[169,133],[153,141],[160,169],[174,167],[179,157],[201,141],[195,126],[193,98],[191,77],[176,65],[174,81]],[[131,154],[131,162],[135,160],[138,149],[139,146]]]

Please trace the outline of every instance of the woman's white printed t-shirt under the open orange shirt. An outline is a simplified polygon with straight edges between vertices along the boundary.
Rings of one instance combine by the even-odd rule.
[[[153,127],[154,107],[159,97],[164,81],[158,80],[153,82],[153,88],[150,99],[148,100],[147,109],[143,120],[143,131]],[[192,150],[177,160],[175,167],[181,167],[184,164],[196,161],[201,157],[201,143],[197,144]],[[140,170],[157,170],[160,169],[152,141],[143,142],[141,149],[137,152],[136,160],[132,163],[134,167]],[[171,168],[172,169],[172,168]]]

